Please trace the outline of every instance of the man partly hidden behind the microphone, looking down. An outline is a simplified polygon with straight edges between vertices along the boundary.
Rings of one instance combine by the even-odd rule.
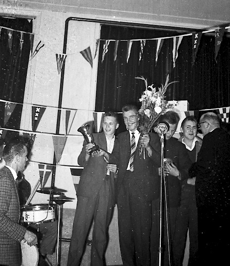
[[[172,259],[172,240],[175,230],[177,208],[180,205],[181,182],[189,178],[189,168],[192,164],[187,153],[185,145],[180,143],[173,135],[176,131],[179,122],[179,115],[173,111],[168,111],[160,116],[159,123],[169,125],[164,139],[164,158],[165,164],[165,196],[163,195],[162,204],[164,206],[162,223],[163,223],[163,256],[162,265],[169,265],[169,260]],[[171,163],[170,163],[171,162]],[[160,169],[154,168],[155,173],[160,175]],[[163,182],[164,183],[164,182]],[[160,189],[160,184],[158,184]],[[156,199],[152,202],[153,206],[153,225],[151,234],[151,263],[153,266],[158,265],[158,249],[159,247],[159,229],[160,229],[160,201]],[[167,220],[166,220],[167,218]],[[168,252],[168,250],[170,252]]]

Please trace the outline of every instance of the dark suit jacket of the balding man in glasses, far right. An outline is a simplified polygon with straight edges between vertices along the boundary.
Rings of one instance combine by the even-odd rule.
[[[190,169],[196,176],[198,206],[230,206],[230,136],[220,128],[206,134],[197,162]]]

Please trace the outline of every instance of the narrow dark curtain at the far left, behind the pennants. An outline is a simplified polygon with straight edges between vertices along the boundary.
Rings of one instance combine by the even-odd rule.
[[[0,17],[0,26],[9,29],[32,32],[32,20]],[[23,46],[20,48],[21,34],[12,31],[12,48],[9,47],[9,31],[2,28],[0,38],[0,98],[23,103],[27,68],[30,55],[30,34],[23,34]],[[0,125],[3,128],[20,129],[22,104],[17,104],[9,121],[4,125],[5,102],[0,102]],[[17,136],[14,131],[7,131],[4,140]],[[3,141],[3,139],[2,139]]]

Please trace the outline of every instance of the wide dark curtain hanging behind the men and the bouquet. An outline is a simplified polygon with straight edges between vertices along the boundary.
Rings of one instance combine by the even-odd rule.
[[[117,26],[102,25],[101,39],[148,39],[176,36],[178,33],[159,30],[135,30]],[[145,90],[145,83],[136,80],[144,76],[148,84],[160,87],[169,74],[170,85],[167,100],[188,100],[190,110],[221,108],[230,105],[230,39],[225,35],[215,61],[214,36],[202,35],[196,62],[192,65],[192,36],[184,36],[178,49],[176,66],[173,68],[173,38],[164,39],[156,64],[156,40],[147,40],[143,57],[139,61],[140,41],[133,41],[130,58],[126,63],[127,41],[120,41],[117,59],[114,61],[115,42],[102,62],[103,44],[100,42],[96,111],[120,112],[126,103],[140,106],[139,98]]]

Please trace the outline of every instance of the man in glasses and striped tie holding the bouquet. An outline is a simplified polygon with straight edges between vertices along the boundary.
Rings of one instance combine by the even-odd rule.
[[[101,152],[119,168],[117,206],[123,265],[146,266],[150,265],[151,200],[158,197],[154,179],[159,177],[154,176],[153,165],[160,166],[160,141],[156,134],[141,136],[137,131],[139,117],[135,105],[125,105],[122,112],[128,130],[118,135],[119,145],[114,147],[112,154]],[[145,159],[139,154],[140,143],[145,147]]]

